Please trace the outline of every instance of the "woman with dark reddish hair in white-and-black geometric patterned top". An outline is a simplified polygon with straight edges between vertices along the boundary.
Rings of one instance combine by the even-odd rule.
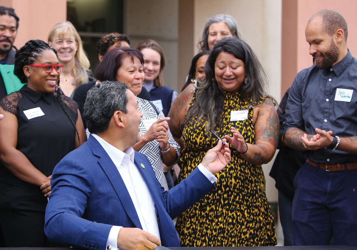
[[[103,56],[102,61],[96,67],[96,77],[100,81],[124,82],[137,96],[145,78],[143,64],[144,57],[139,50],[115,48]],[[171,166],[177,163],[180,146],[172,137],[166,122],[168,118],[164,117],[162,111],[157,109],[152,102],[139,97],[137,97],[137,102],[143,116],[139,125],[140,141],[133,148],[149,159],[157,180],[167,190],[163,164]]]

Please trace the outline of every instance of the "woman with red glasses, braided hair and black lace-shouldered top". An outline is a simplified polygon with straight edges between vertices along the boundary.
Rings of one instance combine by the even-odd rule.
[[[86,141],[75,102],[59,88],[56,51],[28,41],[15,55],[25,84],[0,101],[0,224],[6,247],[45,247],[45,208],[55,165]]]

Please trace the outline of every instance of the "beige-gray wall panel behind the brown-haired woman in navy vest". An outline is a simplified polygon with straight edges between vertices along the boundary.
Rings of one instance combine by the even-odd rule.
[[[177,90],[178,0],[127,1],[125,24],[132,48],[148,38],[160,44],[166,57],[164,85]]]

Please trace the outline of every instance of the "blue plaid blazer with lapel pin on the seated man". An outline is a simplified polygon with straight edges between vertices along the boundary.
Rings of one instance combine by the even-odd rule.
[[[135,152],[134,159],[156,205],[162,245],[180,246],[172,218],[215,185],[196,168],[179,185],[165,191],[147,158]],[[106,249],[112,225],[142,229],[119,171],[93,136],[56,165],[51,187],[45,215],[45,234],[51,241]]]

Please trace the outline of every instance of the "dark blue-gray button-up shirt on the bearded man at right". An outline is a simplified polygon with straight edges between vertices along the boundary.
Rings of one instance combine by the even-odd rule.
[[[284,133],[297,127],[315,135],[315,128],[333,136],[357,135],[357,59],[345,58],[327,70],[313,65],[300,71],[291,86],[286,105]],[[308,150],[307,158],[321,163],[357,162],[357,155],[340,150]]]

